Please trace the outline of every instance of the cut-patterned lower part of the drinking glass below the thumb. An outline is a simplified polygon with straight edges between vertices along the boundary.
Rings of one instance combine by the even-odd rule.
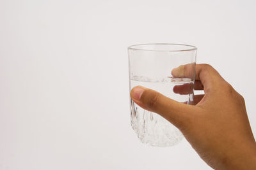
[[[151,146],[177,145],[184,136],[182,133],[157,113],[143,110],[137,104],[132,104],[131,125],[142,143]]]

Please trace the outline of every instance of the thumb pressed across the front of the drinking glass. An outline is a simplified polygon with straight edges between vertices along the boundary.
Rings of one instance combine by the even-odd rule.
[[[158,113],[176,127],[187,122],[195,109],[195,106],[179,103],[142,86],[136,86],[131,90],[131,98],[141,108]]]

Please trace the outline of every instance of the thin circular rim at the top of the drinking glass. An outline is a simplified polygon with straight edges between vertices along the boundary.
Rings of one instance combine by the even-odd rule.
[[[179,46],[187,46],[190,48],[184,49],[184,50],[148,50],[148,49],[136,48],[136,46],[142,46],[142,45],[179,45]],[[187,52],[187,51],[197,50],[197,48],[196,46],[193,46],[193,45],[184,45],[184,44],[176,44],[176,43],[146,43],[146,44],[128,46],[128,50],[141,50],[141,51],[151,51],[151,52]]]

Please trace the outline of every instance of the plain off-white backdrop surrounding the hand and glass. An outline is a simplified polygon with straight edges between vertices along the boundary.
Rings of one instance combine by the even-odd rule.
[[[0,0],[0,169],[211,169],[140,143],[127,46],[185,43],[244,96],[256,135],[255,1]]]

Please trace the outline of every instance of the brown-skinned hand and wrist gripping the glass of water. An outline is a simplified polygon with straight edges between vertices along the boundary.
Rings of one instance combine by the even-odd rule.
[[[175,77],[189,77],[189,65],[173,69]],[[173,101],[145,87],[131,90],[132,100],[178,127],[200,157],[214,169],[256,169],[256,143],[243,97],[208,64],[197,64],[194,105]],[[191,87],[173,92],[188,94]]]

